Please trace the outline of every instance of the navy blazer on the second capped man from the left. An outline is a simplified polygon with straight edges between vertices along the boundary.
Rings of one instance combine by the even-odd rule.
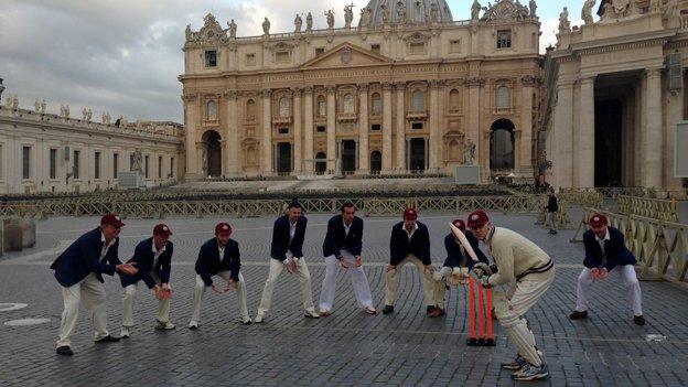
[[[153,254],[153,237],[141,240],[136,249],[133,249],[133,257],[127,261],[137,262],[136,267],[139,269],[133,276],[129,275],[119,275],[119,280],[122,284],[122,288],[126,288],[130,284],[135,284],[140,280],[146,282],[148,289],[153,289],[155,286],[155,280],[151,277],[150,272],[154,271],[158,277],[160,277],[160,282],[170,283],[170,271],[171,262],[172,262],[172,254],[174,252],[174,245],[171,241],[168,241],[165,245],[165,250],[162,251],[160,257],[158,258],[158,265],[153,267],[153,259],[155,255]]]

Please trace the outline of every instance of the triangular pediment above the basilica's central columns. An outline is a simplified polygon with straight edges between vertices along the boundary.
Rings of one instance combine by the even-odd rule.
[[[393,61],[351,43],[342,43],[308,62],[301,68],[331,68],[342,66],[366,66],[390,64]]]

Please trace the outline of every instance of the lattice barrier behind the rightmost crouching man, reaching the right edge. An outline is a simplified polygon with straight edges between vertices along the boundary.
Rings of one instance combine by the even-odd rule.
[[[641,279],[686,281],[688,225],[585,207],[571,241],[580,241],[579,234],[588,229],[588,219],[592,214],[606,215],[610,226],[624,233],[626,247],[635,255],[641,267]]]

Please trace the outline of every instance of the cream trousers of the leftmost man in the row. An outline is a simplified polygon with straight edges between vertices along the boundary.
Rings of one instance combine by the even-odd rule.
[[[62,298],[64,299],[64,311],[62,312],[62,321],[60,322],[60,338],[57,346],[69,345],[69,337],[74,333],[76,319],[78,318],[78,307],[82,300],[84,307],[90,315],[94,326],[95,340],[107,336],[107,309],[105,287],[95,273],[89,273],[86,278],[68,288],[61,287]]]

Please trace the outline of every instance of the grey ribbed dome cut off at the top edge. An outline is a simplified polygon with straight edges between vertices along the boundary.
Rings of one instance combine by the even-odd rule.
[[[358,26],[375,28],[386,21],[391,24],[451,23],[453,18],[444,0],[370,0],[363,9]]]

